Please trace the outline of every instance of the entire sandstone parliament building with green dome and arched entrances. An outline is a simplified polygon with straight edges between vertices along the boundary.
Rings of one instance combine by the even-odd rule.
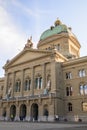
[[[87,121],[87,56],[72,29],[56,20],[4,65],[0,120]]]

